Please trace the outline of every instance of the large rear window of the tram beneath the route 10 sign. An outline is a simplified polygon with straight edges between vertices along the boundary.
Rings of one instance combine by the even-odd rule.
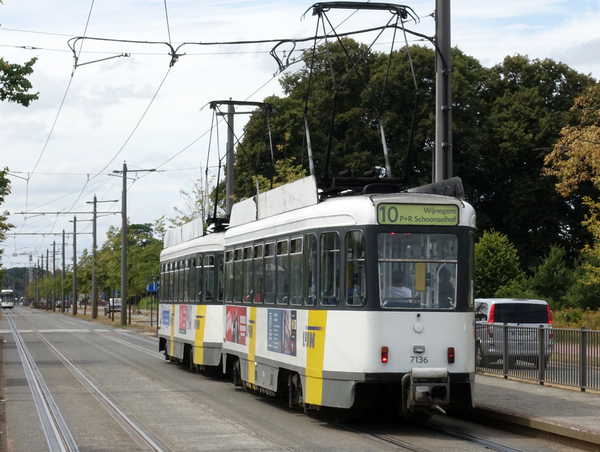
[[[456,306],[456,235],[382,233],[377,245],[382,307],[453,309]]]

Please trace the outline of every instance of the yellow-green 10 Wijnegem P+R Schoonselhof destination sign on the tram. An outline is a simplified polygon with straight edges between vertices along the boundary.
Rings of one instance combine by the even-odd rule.
[[[377,223],[411,226],[456,226],[458,206],[391,204],[377,206]]]

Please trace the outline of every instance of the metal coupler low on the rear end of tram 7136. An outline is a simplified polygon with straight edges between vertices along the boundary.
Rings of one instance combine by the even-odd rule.
[[[445,368],[414,368],[402,377],[402,413],[415,409],[442,413],[450,402],[450,379]]]

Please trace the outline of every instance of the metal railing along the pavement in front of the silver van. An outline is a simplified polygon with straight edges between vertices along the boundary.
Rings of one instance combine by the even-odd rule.
[[[478,371],[600,389],[600,331],[476,325]]]

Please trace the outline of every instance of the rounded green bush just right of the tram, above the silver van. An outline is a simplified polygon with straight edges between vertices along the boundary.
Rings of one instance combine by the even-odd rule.
[[[484,232],[475,245],[475,296],[493,297],[500,287],[523,277],[517,250],[506,235]]]

